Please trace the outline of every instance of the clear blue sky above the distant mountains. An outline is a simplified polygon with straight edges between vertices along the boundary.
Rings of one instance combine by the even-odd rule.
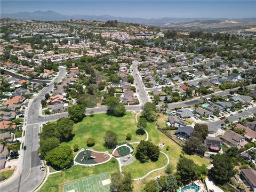
[[[1,1],[2,13],[38,10],[147,19],[253,18],[256,17],[256,1]]]

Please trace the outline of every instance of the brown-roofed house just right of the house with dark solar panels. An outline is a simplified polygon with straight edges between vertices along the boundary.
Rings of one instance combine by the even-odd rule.
[[[245,141],[245,138],[242,135],[239,135],[238,133],[231,130],[226,131],[221,139],[232,147],[243,147],[246,143],[248,143],[247,141]]]

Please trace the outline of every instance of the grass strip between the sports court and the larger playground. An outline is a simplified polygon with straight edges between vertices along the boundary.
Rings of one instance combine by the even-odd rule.
[[[82,179],[91,175],[108,172],[111,173],[119,171],[118,162],[113,158],[109,162],[94,167],[75,165],[65,171],[51,174],[44,186],[39,190],[40,192],[57,192],[63,191],[65,183]]]

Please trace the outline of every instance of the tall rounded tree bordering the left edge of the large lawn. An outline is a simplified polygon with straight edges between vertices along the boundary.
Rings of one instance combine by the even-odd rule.
[[[57,136],[60,138],[60,141],[67,141],[72,137],[73,125],[74,121],[70,120],[68,117],[62,117],[57,121]]]

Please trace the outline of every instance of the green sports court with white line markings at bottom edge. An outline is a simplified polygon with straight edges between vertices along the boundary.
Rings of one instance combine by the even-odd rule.
[[[110,182],[109,174],[102,173],[66,183],[64,192],[107,192]]]

